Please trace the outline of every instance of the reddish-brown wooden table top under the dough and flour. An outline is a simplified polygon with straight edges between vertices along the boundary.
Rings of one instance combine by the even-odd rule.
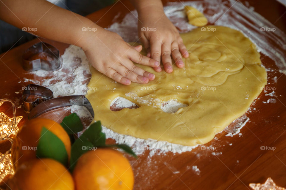
[[[166,3],[166,1],[164,1]],[[282,31],[286,32],[285,7],[276,1],[253,0],[249,4],[255,11],[268,19]],[[117,20],[124,17],[133,7],[128,1],[118,1],[115,5],[94,12],[87,17],[102,27],[107,27],[118,12],[121,14]],[[283,15],[284,14],[284,15]],[[281,16],[282,15],[282,16]],[[277,20],[278,19],[278,20]],[[69,45],[47,39],[34,39],[23,45],[15,47],[0,55],[0,97],[9,98],[16,106],[23,104],[21,89],[28,83],[23,78],[35,79],[27,74],[21,66],[21,56],[25,49],[36,42],[44,41],[54,45],[63,54]],[[262,55],[265,66],[278,69],[274,62]],[[268,98],[260,95],[257,101],[256,112],[246,113],[251,118],[241,130],[242,136],[227,137],[226,131],[216,135],[216,139],[207,143],[217,146],[216,152],[195,148],[191,152],[166,153],[148,157],[148,151],[134,160],[130,157],[135,173],[134,189],[249,189],[249,183],[264,183],[268,177],[273,178],[279,186],[286,187],[286,75],[279,77],[275,84],[268,85],[276,88],[279,101],[276,104],[264,104]],[[15,94],[15,92],[20,92]],[[283,95],[284,94],[284,95]],[[12,115],[8,103],[0,107],[0,111]],[[27,121],[27,113],[23,106],[17,109],[17,116],[24,118],[19,127]],[[232,145],[229,145],[232,143]],[[4,152],[10,146],[2,142],[0,151]],[[261,150],[260,146],[275,147],[275,150]],[[220,154],[221,152],[221,154]],[[195,173],[192,166],[198,166],[200,173]]]

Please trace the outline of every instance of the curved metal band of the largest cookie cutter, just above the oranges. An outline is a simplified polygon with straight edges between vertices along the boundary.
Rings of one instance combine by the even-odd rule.
[[[94,118],[94,111],[91,103],[84,95],[62,96],[46,100],[37,105],[30,113],[28,119],[36,118],[39,115],[60,107],[67,107],[72,105],[84,106]]]

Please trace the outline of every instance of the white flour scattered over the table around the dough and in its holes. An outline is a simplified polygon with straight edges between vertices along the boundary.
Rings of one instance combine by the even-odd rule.
[[[269,56],[272,60],[274,60],[281,72],[286,71],[286,63],[283,58],[284,54],[281,50],[278,49],[279,47],[282,50],[286,50],[286,47],[283,45],[286,44],[286,35],[278,28],[273,26],[268,20],[265,20],[265,18],[263,18],[261,15],[254,12],[254,9],[252,7],[246,8],[244,5],[234,0],[230,0],[229,2],[221,0],[204,0],[184,2],[184,4],[181,2],[169,3],[168,6],[164,7],[164,11],[167,17],[170,18],[172,23],[174,23],[174,25],[179,29],[180,32],[187,32],[195,28],[195,26],[189,25],[187,23],[186,15],[184,12],[184,5],[193,6],[203,12],[206,18],[208,18],[210,24],[228,26],[242,31],[245,36],[249,37],[252,42],[257,45],[259,52]],[[206,10],[206,8],[208,8],[208,11],[204,11]],[[119,15],[117,15],[117,17],[119,17]],[[136,17],[137,12],[132,11],[125,16],[121,23],[116,22],[107,29],[118,33],[127,42],[138,41],[139,37],[137,33]],[[276,31],[260,31],[260,27],[272,27],[276,28]],[[268,35],[265,35],[265,32],[268,32]],[[35,80],[26,79],[25,82],[32,82],[35,84],[46,86],[54,92],[55,97],[76,94],[85,95],[87,89],[87,82],[89,79],[88,77],[90,77],[90,71],[88,66],[88,60],[84,55],[83,50],[76,46],[70,46],[66,49],[65,53],[62,56],[62,59],[63,66],[58,71],[47,72],[43,70],[38,70],[32,73],[37,75],[39,78]],[[268,69],[267,71],[275,72],[273,69]],[[45,77],[48,79],[42,79],[41,77]],[[273,81],[277,81],[276,76],[273,78]],[[274,91],[270,92],[266,96],[274,96]],[[116,103],[119,107],[134,106],[133,102],[126,101],[126,99],[117,100],[118,102]],[[268,99],[265,103],[275,102],[276,99]],[[169,111],[173,113],[178,110],[180,106],[182,105],[179,105],[175,102],[171,102]],[[167,107],[161,108],[164,110]],[[78,107],[70,107],[69,109],[71,109],[71,112],[76,112],[82,117],[87,114],[85,111],[80,111]],[[256,109],[253,108],[252,110]],[[249,112],[251,112],[252,110],[250,109]],[[164,111],[167,112],[168,109]],[[250,119],[244,115],[233,122],[235,125],[231,129],[230,127],[227,127],[224,131],[229,132],[227,136],[232,137],[236,134],[240,135],[240,129],[249,120]],[[116,140],[116,143],[125,143],[127,145],[130,145],[133,148],[133,151],[138,155],[142,154],[146,150],[150,151],[149,156],[153,156],[155,153],[166,153],[168,151],[171,151],[173,153],[182,153],[185,151],[192,151],[193,148],[199,146],[182,146],[168,143],[165,141],[138,139],[136,137],[128,135],[118,134],[116,132],[113,132],[111,129],[105,128],[104,126],[102,130],[106,134],[107,138],[112,138]],[[213,141],[215,142],[216,140],[217,138],[215,138]],[[230,143],[229,145],[232,145],[232,143]],[[214,156],[221,154],[220,152],[212,153],[212,155]],[[197,168],[197,166],[193,166],[192,169],[197,172],[198,175],[200,174],[200,170]]]

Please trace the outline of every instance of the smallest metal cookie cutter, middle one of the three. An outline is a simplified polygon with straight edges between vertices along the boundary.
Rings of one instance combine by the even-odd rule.
[[[36,105],[54,97],[53,92],[46,87],[29,84],[23,87],[23,102],[25,111],[31,111]]]

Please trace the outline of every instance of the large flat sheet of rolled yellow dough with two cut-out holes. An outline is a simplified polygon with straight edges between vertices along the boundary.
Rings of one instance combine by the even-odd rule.
[[[93,106],[94,120],[120,134],[193,146],[211,141],[243,115],[267,82],[260,54],[240,31],[206,27],[216,30],[197,28],[181,34],[187,49],[191,47],[190,57],[183,58],[184,68],[174,65],[168,74],[136,64],[155,73],[155,80],[148,84],[125,86],[91,67],[88,87],[97,90],[88,91],[86,97]],[[139,108],[111,111],[111,102],[118,96]],[[162,104],[171,100],[188,106],[165,113]]]

